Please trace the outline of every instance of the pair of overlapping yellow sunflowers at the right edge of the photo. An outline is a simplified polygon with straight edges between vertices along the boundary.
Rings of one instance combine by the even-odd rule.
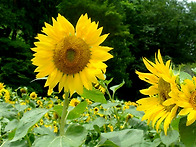
[[[151,86],[140,90],[146,97],[137,101],[137,110],[145,112],[142,120],[148,120],[147,123],[151,122],[153,127],[156,124],[157,132],[164,121],[164,132],[167,134],[177,110],[183,108],[179,115],[189,114],[187,125],[192,124],[196,120],[196,78],[177,83],[178,75],[174,74],[170,60],[164,64],[160,50],[157,56],[155,54],[155,63],[146,58],[143,62],[150,73],[136,71],[136,74]]]

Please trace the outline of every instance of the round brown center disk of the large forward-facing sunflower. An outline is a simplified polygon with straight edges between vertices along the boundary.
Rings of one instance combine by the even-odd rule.
[[[89,63],[90,47],[76,36],[68,36],[56,44],[54,64],[64,74],[76,74]]]

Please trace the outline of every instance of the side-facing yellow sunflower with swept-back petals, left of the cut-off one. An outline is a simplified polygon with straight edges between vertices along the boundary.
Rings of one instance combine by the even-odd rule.
[[[158,132],[160,124],[164,121],[164,132],[167,134],[167,129],[172,119],[176,116],[178,106],[173,102],[170,96],[171,90],[177,90],[175,83],[176,76],[171,70],[170,60],[164,64],[160,50],[158,56],[155,54],[155,63],[143,58],[146,68],[151,73],[141,73],[136,71],[141,80],[151,84],[148,89],[140,90],[140,92],[148,97],[137,101],[139,104],[138,111],[144,111],[145,114],[142,120],[148,120],[148,124],[152,122]],[[164,105],[169,101],[170,104]]]

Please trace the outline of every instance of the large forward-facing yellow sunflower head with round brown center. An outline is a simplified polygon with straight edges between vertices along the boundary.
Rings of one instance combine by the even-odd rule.
[[[90,90],[97,78],[104,79],[107,65],[104,61],[113,56],[112,48],[100,46],[108,34],[101,35],[102,27],[91,22],[87,14],[81,15],[76,28],[63,16],[52,18],[53,25],[45,23],[44,34],[38,34],[36,53],[32,62],[38,66],[36,78],[47,76],[45,87],[51,91],[57,84],[59,92],[83,92],[83,86]],[[101,36],[100,36],[101,35]]]

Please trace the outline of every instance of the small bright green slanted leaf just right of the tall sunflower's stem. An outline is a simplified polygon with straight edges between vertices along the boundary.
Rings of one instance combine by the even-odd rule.
[[[71,110],[68,114],[67,119],[75,119],[80,117],[80,114],[82,114],[87,107],[87,101],[83,101],[79,103],[76,107],[74,107],[73,110]]]

